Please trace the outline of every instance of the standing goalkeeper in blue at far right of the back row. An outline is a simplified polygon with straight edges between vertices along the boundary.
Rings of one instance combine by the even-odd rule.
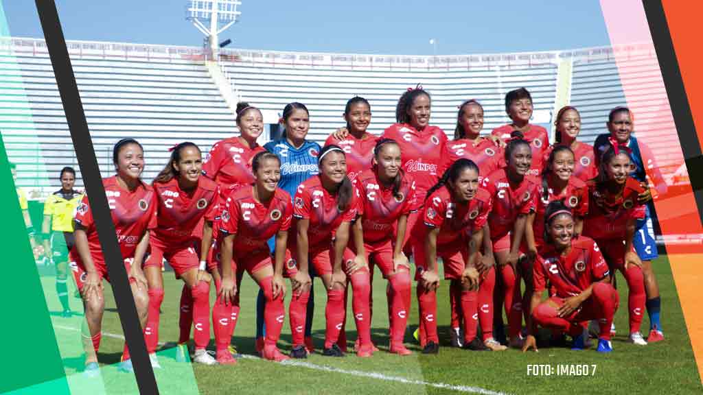
[[[645,143],[638,141],[632,136],[634,130],[634,118],[632,112],[626,107],[616,107],[610,111],[606,124],[609,134],[601,134],[595,139],[595,157],[598,160],[600,155],[610,147],[610,139],[614,139],[620,145],[629,148],[631,159],[635,165],[631,174],[634,179],[640,181],[643,192],[638,197],[640,203],[645,204],[645,217],[638,219],[636,223],[635,240],[633,244],[635,251],[642,260],[642,271],[645,276],[645,291],[647,292],[647,313],[650,316],[649,342],[659,342],[664,339],[662,324],[659,321],[659,311],[661,309],[661,299],[659,298],[659,285],[657,278],[652,271],[652,260],[659,257],[657,252],[657,242],[654,240],[654,224],[652,224],[652,214],[654,205],[652,204],[652,191],[647,186],[647,175],[654,184],[654,190],[659,195],[666,193],[666,182],[662,172],[659,171],[657,162],[654,161],[652,151]]]

